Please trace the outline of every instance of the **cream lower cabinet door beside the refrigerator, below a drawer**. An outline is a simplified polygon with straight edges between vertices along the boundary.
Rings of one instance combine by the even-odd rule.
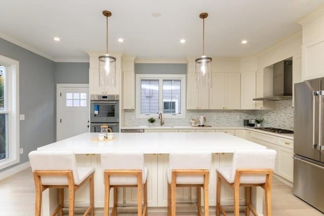
[[[277,169],[276,173],[293,182],[294,178],[294,150],[277,146]]]

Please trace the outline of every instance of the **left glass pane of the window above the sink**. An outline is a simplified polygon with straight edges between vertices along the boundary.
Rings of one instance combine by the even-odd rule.
[[[158,80],[141,80],[141,113],[158,113]]]

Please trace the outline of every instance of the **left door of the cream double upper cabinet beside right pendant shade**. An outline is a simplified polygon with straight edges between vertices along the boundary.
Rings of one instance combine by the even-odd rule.
[[[210,109],[225,109],[225,74],[212,74],[212,88],[209,90]]]

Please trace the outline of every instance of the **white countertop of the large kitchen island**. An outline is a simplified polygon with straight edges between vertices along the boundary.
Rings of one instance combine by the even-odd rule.
[[[235,149],[265,148],[226,133],[114,133],[116,139],[113,141],[91,141],[91,138],[97,136],[98,133],[84,133],[39,147],[37,150],[68,150],[74,151],[75,154],[100,154],[109,150],[163,154],[178,150],[231,153]]]

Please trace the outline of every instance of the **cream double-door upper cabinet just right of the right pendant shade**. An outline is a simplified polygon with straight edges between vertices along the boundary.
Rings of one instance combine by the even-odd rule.
[[[210,109],[240,109],[240,73],[213,73]]]

